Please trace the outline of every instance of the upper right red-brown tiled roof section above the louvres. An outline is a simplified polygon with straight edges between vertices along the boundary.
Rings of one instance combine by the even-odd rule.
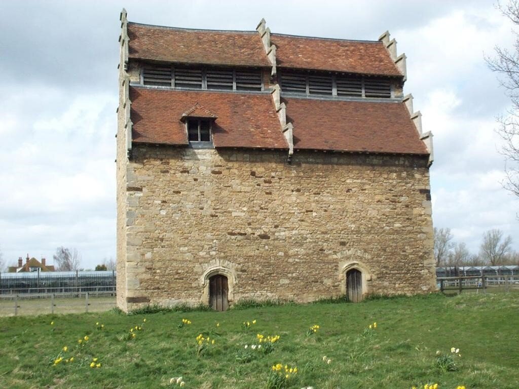
[[[402,76],[381,42],[271,34],[278,67]]]

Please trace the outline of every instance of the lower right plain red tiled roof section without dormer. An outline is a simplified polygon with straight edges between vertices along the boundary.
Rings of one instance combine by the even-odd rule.
[[[429,154],[404,103],[289,98],[294,149]]]

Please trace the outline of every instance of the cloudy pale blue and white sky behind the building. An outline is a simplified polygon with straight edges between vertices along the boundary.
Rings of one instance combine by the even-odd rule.
[[[434,134],[435,227],[477,252],[499,228],[519,249],[519,200],[502,189],[496,116],[509,101],[484,62],[511,47],[491,1],[2,1],[0,250],[11,265],[75,247],[92,268],[115,257],[119,12],[130,21],[370,39],[389,30],[407,55],[404,92]]]

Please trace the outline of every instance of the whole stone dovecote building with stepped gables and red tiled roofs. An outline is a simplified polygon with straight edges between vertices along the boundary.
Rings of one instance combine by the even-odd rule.
[[[119,308],[435,290],[432,135],[389,33],[120,20]]]

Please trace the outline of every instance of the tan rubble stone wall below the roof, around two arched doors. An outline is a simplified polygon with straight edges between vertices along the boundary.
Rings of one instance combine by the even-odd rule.
[[[286,156],[134,144],[118,306],[207,303],[215,273],[231,304],[343,295],[350,267],[365,293],[435,290],[427,157]]]

